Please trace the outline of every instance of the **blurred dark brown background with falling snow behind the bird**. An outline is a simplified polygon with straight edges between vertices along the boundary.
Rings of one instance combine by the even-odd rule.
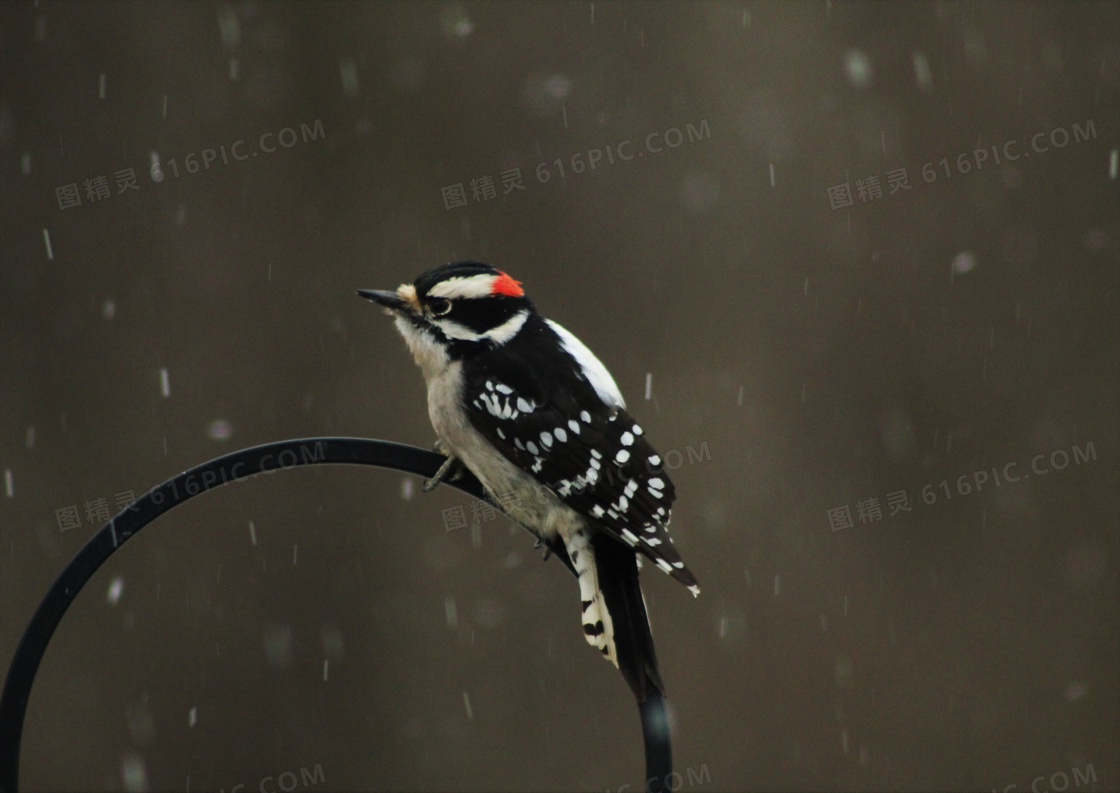
[[[0,671],[97,500],[284,438],[429,446],[421,375],[353,290],[477,258],[679,463],[703,593],[644,580],[684,790],[1120,787],[1120,6],[44,0],[0,25]],[[572,172],[626,139],[641,158]],[[504,520],[445,531],[470,500],[411,478],[281,472],[130,541],[44,660],[24,789],[638,790],[570,575]]]

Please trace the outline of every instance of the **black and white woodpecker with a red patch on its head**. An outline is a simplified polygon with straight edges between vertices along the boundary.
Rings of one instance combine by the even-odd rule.
[[[436,448],[448,459],[424,489],[465,466],[511,517],[566,551],[588,643],[638,701],[651,684],[664,693],[640,554],[700,589],[669,537],[673,483],[606,366],[538,314],[520,281],[484,262],[358,295],[394,317],[427,382]]]

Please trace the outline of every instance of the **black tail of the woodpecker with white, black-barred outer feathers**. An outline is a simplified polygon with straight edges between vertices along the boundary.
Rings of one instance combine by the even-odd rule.
[[[579,578],[588,643],[618,668],[638,702],[646,700],[651,688],[664,694],[634,549],[605,532],[590,540],[579,532],[567,550]]]

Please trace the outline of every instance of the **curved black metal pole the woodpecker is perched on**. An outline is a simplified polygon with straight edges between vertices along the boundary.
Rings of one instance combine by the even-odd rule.
[[[431,477],[446,458],[414,446],[367,438],[302,438],[254,446],[204,463],[153,487],[102,526],[66,566],[31,617],[8,670],[0,693],[0,793],[19,790],[19,750],[27,702],[47,644],[82,587],[130,537],[183,502],[231,482],[245,482],[279,468],[306,465],[373,465]],[[482,484],[469,472],[451,486],[485,498]],[[501,505],[495,505],[501,509]],[[547,543],[575,575],[563,543]],[[638,702],[645,738],[646,776],[664,780],[672,771],[668,721],[660,696]]]

